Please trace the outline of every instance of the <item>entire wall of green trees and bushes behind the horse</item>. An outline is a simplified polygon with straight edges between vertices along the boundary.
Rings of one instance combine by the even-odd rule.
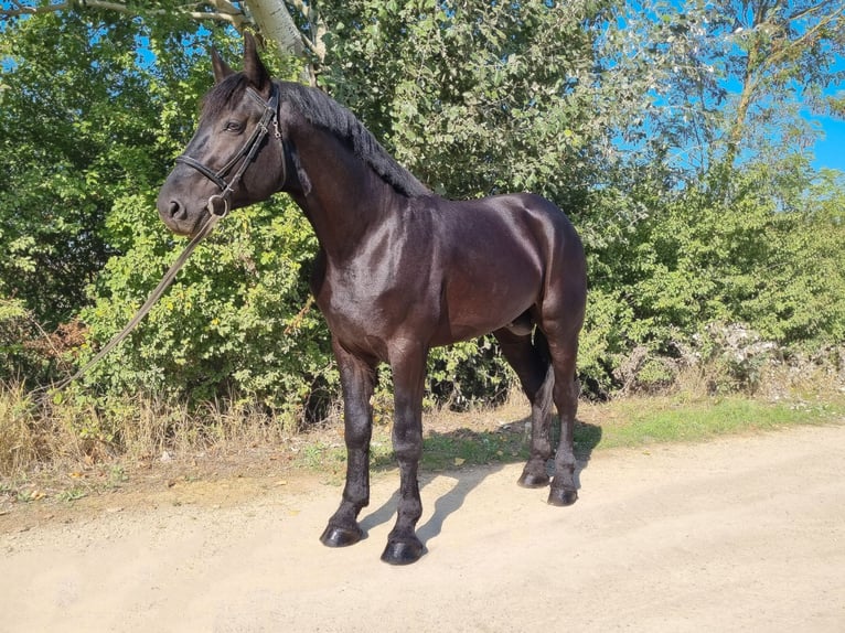
[[[845,337],[845,182],[809,168],[798,116],[799,96],[841,114],[824,88],[845,31],[827,6],[799,28],[804,4],[752,4],[766,28],[744,34],[750,14],[724,3],[331,0],[313,7],[329,32],[312,62],[436,191],[530,190],[570,215],[590,280],[581,378],[608,394],[638,350],[635,383],[663,385],[715,322],[789,347]],[[211,85],[206,45],[236,66],[240,37],[162,7],[175,4],[0,29],[1,379],[44,383],[90,357],[183,244],[153,202]],[[301,60],[266,61],[301,76]],[[257,403],[289,428],[321,416],[338,379],[308,299],[315,249],[286,196],[226,218],[67,423],[113,441],[108,403],[139,390]],[[435,351],[429,401],[500,398],[512,379],[495,352],[489,337]]]

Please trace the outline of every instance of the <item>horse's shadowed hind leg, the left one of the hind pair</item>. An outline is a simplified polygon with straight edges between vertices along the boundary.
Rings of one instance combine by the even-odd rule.
[[[545,336],[539,330],[535,341],[531,328],[502,328],[493,332],[507,363],[516,372],[523,391],[531,403],[531,455],[518,484],[543,487],[548,484],[546,462],[552,457],[552,396],[555,376],[548,357]]]

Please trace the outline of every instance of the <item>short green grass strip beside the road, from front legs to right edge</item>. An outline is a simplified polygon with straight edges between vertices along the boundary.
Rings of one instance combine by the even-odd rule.
[[[496,409],[424,415],[422,471],[525,461],[528,457],[528,406],[522,397]],[[698,442],[716,437],[770,431],[799,425],[845,421],[845,395],[768,401],[744,396],[689,395],[628,397],[603,404],[581,403],[575,427],[576,453],[638,448],[655,443]],[[373,429],[371,466],[395,466],[388,423]],[[309,436],[311,436],[309,438]],[[321,471],[335,481],[345,469],[342,425],[306,433],[297,468]]]

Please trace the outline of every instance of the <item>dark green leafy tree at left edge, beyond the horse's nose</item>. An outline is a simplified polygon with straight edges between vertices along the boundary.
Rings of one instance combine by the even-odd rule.
[[[0,41],[0,293],[46,328],[69,319],[116,245],[103,230],[111,201],[149,186],[158,103],[135,64],[135,28],[96,29],[71,14],[25,21]],[[53,54],[43,54],[43,42]]]

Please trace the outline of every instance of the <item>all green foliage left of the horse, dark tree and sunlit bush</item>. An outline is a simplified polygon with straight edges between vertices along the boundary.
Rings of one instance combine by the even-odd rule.
[[[206,49],[192,50],[196,29],[177,19],[149,29],[107,12],[68,12],[4,34],[2,142],[17,151],[4,152],[12,180],[0,184],[0,239],[12,256],[0,262],[0,297],[17,299],[2,304],[3,371],[32,374],[21,364],[24,316],[55,326],[78,314],[89,328],[81,360],[89,357],[181,247],[154,199],[212,82]],[[231,57],[240,46],[233,35],[214,40]],[[288,76],[297,67],[274,69]],[[324,407],[334,382],[324,326],[315,311],[300,314],[314,249],[287,200],[233,216],[87,383],[194,405],[257,398],[291,419],[306,404]],[[110,437],[92,423],[78,431]]]

